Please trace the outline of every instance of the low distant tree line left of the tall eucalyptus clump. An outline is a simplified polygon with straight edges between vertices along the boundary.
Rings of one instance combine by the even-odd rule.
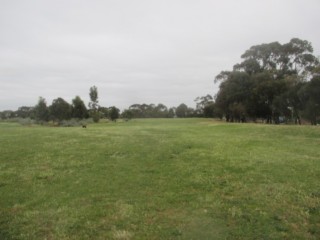
[[[39,97],[39,100],[35,106],[19,107],[17,111],[3,111],[0,112],[1,119],[12,118],[30,118],[39,123],[53,121],[60,123],[64,120],[77,119],[83,120],[92,118],[94,122],[99,122],[100,119],[108,118],[112,121],[116,121],[118,118],[130,120],[132,118],[187,118],[187,117],[202,117],[203,111],[201,101],[204,97],[197,98],[195,101],[200,101],[197,104],[197,109],[188,107],[182,103],[177,107],[168,108],[164,104],[133,104],[128,109],[125,109],[120,113],[120,110],[115,107],[103,107],[99,105],[98,89],[96,86],[90,88],[89,91],[90,102],[88,108],[83,100],[76,96],[72,99],[71,104],[63,98],[59,97],[52,101],[51,105],[47,104],[47,101],[43,97]],[[205,98],[213,99],[212,96],[207,95]]]

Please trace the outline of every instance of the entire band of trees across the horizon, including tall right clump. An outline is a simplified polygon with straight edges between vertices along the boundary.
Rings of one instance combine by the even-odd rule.
[[[252,46],[241,56],[242,62],[231,71],[215,77],[220,83],[218,93],[195,99],[196,108],[181,103],[168,108],[164,104],[133,104],[122,111],[99,105],[98,89],[90,88],[88,108],[79,96],[69,104],[63,98],[52,101],[39,98],[36,106],[20,107],[17,111],[0,112],[2,119],[31,118],[37,121],[62,121],[71,118],[221,118],[227,122],[246,122],[262,119],[266,123],[308,120],[319,123],[320,64],[313,55],[312,44],[293,38],[280,44],[272,42]]]

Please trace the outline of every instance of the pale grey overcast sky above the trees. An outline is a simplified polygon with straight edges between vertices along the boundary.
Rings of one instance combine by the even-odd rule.
[[[252,45],[298,37],[320,55],[319,0],[0,0],[0,111],[57,97],[102,106],[214,95]]]

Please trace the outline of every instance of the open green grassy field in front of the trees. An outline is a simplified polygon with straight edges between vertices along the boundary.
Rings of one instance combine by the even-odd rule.
[[[320,239],[320,128],[0,123],[0,239]]]

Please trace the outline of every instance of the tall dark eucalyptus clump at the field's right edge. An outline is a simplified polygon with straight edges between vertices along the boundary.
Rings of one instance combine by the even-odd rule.
[[[227,121],[264,119],[279,123],[320,115],[320,67],[308,41],[273,42],[251,47],[232,71],[216,76],[220,82],[214,106]]]

